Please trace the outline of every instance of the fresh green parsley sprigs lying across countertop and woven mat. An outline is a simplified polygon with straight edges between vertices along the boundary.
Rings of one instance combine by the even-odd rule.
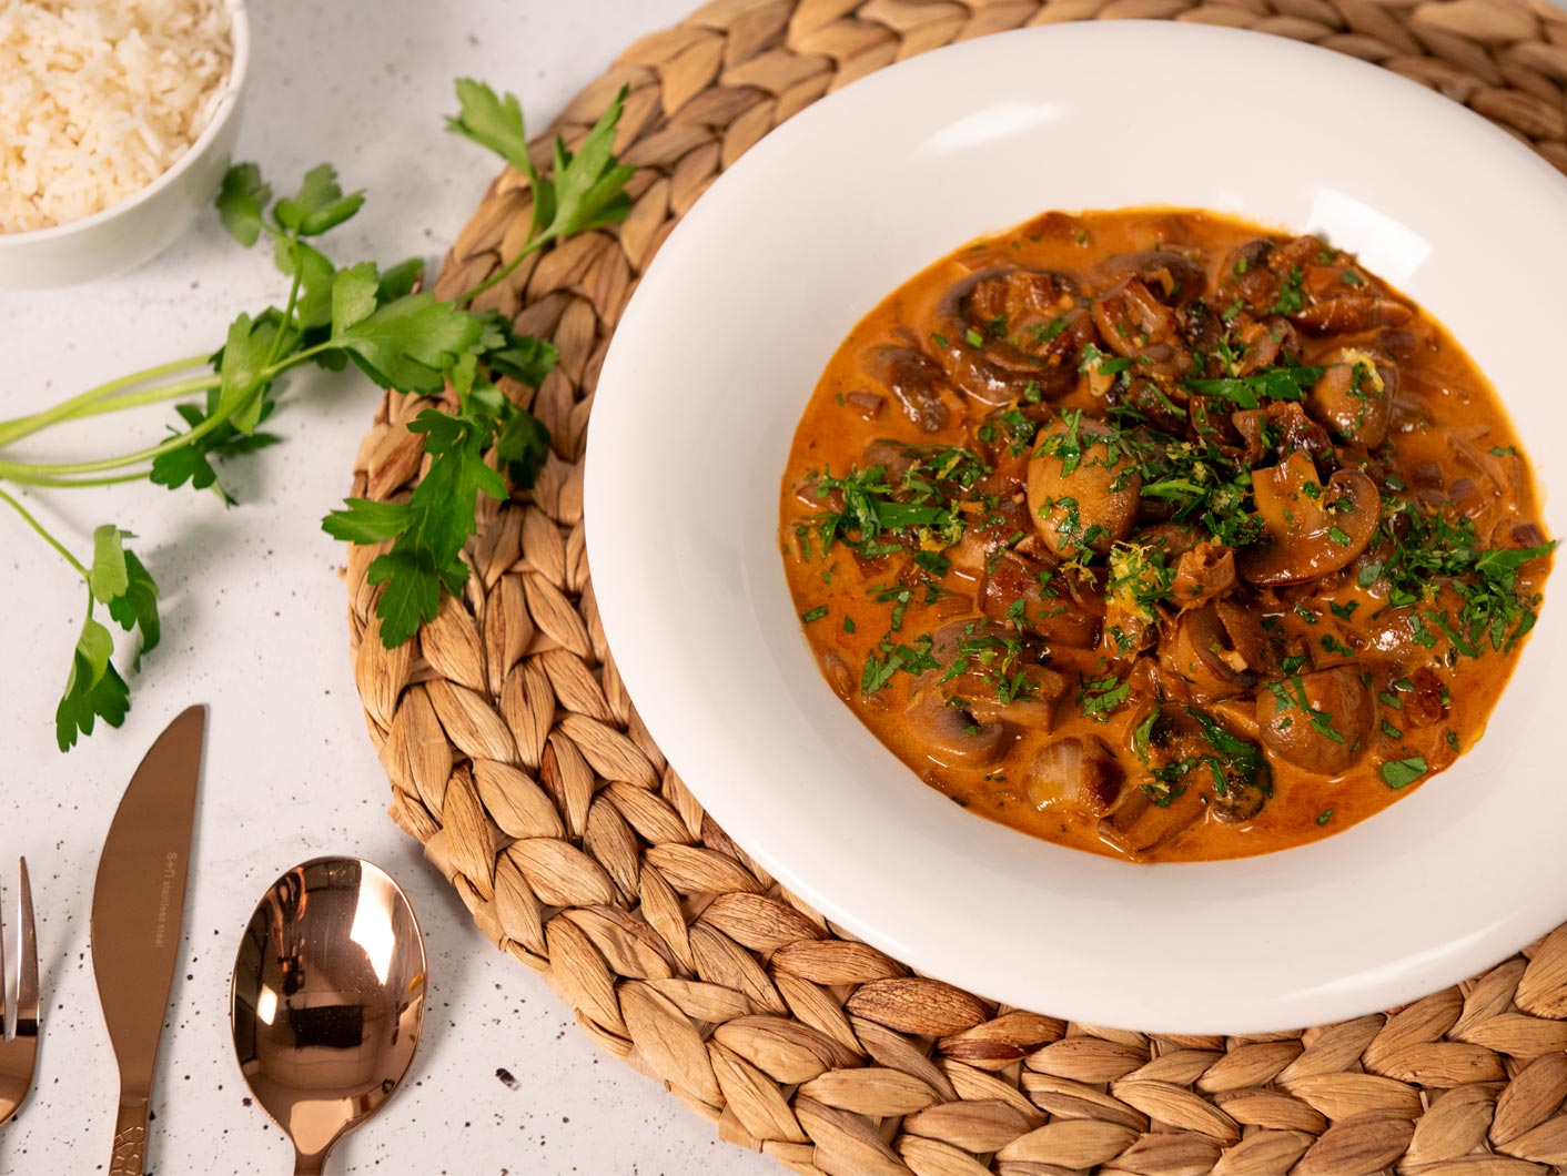
[[[470,304],[545,244],[627,215],[632,169],[613,152],[624,97],[622,91],[575,152],[556,141],[553,168],[542,174],[528,157],[517,99],[497,97],[478,81],[458,83],[461,113],[450,119],[451,128],[522,171],[533,186],[534,216],[517,255],[450,301],[417,288],[418,260],[389,269],[373,262],[338,268],[318,247],[320,238],[351,219],[365,200],[364,191],[343,191],[331,164],[310,169],[296,191],[277,199],[259,166],[230,168],[216,197],[218,215],[244,247],[270,240],[273,262],[288,282],[282,307],[238,315],[210,355],[132,373],[42,412],[0,421],[0,482],[53,490],[150,481],[171,490],[213,490],[232,504],[233,495],[219,481],[221,467],[280,440],[262,426],[279,407],[279,379],[293,368],[338,371],[353,363],[393,391],[450,393],[453,412],[426,409],[409,424],[429,456],[429,471],[409,500],[353,500],[323,523],[349,542],[392,542],[371,564],[370,579],[384,584],[381,637],[389,647],[401,644],[436,615],[442,590],[454,592],[465,581],[462,547],[476,529],[478,495],[505,498],[508,478],[512,487],[530,487],[548,456],[548,431],[512,404],[497,381],[505,376],[537,387],[556,363],[555,348],[516,335],[497,312],[472,310]],[[193,396],[201,399],[193,402]],[[155,445],[66,462],[11,456],[11,446],[41,431],[169,401],[183,401],[176,404],[179,423]],[[83,562],[17,496],[0,489],[0,501],[88,587],[86,615],[55,712],[56,741],[67,750],[78,736],[91,734],[99,719],[119,727],[130,708],[130,686],[113,662],[113,634],[96,609],[102,606],[121,628],[136,631],[132,669],[139,669],[141,655],[161,636],[158,586],[125,548],[128,531],[100,526],[92,559]]]

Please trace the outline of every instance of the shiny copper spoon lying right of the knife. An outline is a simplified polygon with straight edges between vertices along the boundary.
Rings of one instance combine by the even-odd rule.
[[[375,1115],[414,1062],[425,940],[403,889],[360,858],[315,858],[266,891],[233,961],[230,1023],[295,1176]]]

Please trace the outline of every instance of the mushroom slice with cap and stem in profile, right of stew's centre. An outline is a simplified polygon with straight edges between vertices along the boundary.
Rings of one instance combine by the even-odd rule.
[[[1252,470],[1263,540],[1236,557],[1252,584],[1304,584],[1349,565],[1376,532],[1382,498],[1359,470],[1340,470],[1324,487],[1302,453]]]

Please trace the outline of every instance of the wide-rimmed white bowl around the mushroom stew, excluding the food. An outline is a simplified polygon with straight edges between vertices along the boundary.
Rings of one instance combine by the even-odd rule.
[[[1167,1032],[1410,1001],[1567,919],[1551,736],[1567,601],[1545,603],[1484,741],[1413,795],[1312,846],[1167,866],[1036,841],[926,788],[827,687],[790,601],[780,476],[849,327],[979,233],[1147,204],[1357,251],[1496,384],[1567,534],[1550,374],[1567,321],[1562,179],[1462,106],[1346,56],[1197,25],[1061,25],[857,81],[763,139],[671,235],[614,335],[589,434],[605,633],[713,817],[923,972]]]

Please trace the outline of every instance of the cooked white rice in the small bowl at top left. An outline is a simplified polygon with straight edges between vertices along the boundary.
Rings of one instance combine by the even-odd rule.
[[[223,0],[0,0],[0,233],[168,171],[223,97],[229,25]]]

